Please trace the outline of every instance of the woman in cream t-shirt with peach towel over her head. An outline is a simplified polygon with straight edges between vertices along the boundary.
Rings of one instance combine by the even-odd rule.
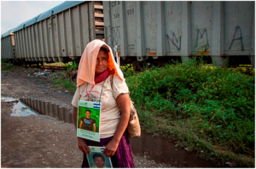
[[[130,117],[129,89],[111,48],[101,40],[87,44],[80,59],[77,90],[73,96],[73,119],[77,127],[79,99],[101,102],[100,143],[78,137],[84,153],[82,167],[89,167],[88,146],[104,146],[103,153],[111,157],[113,167],[134,167],[129,138],[125,132]]]

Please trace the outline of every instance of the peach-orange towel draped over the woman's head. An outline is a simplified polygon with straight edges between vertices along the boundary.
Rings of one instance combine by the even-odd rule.
[[[77,87],[84,84],[85,82],[93,85],[95,84],[94,76],[96,69],[96,59],[100,48],[106,48],[108,50],[108,69],[114,70],[114,74],[119,77],[121,82],[125,80],[123,72],[114,61],[111,48],[105,42],[96,39],[87,44],[80,59],[77,76]]]

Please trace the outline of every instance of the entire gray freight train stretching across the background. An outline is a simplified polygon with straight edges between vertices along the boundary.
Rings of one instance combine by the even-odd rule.
[[[101,39],[135,70],[201,55],[254,68],[254,20],[253,1],[71,1],[4,33],[1,59],[79,61],[86,44]]]

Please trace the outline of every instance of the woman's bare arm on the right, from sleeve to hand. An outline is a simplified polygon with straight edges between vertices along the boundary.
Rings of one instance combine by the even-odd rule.
[[[103,153],[108,157],[113,156],[116,149],[118,148],[119,141],[125,132],[125,129],[128,125],[128,121],[130,118],[131,101],[130,101],[129,94],[128,93],[119,94],[118,98],[116,99],[116,102],[119,105],[119,109],[121,110],[121,116],[120,116],[117,129],[113,134],[113,138],[106,145],[106,148],[103,151]]]

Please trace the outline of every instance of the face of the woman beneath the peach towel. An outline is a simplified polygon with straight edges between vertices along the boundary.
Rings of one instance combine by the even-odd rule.
[[[96,59],[95,75],[99,76],[100,74],[102,74],[102,72],[104,72],[107,69],[108,69],[108,54],[105,51],[100,50]]]

